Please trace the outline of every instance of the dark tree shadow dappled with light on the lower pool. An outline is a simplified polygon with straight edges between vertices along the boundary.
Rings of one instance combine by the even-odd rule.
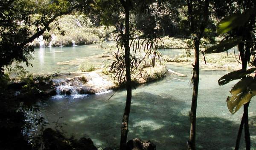
[[[61,115],[65,117],[63,121],[68,124],[65,130],[74,133],[77,138],[89,136],[94,143],[102,144],[103,147],[118,146],[125,97],[116,93],[112,100],[105,101],[111,94],[95,95],[84,99],[83,104],[74,103],[61,110]],[[190,108],[188,103],[177,100],[168,93],[163,95],[149,92],[134,93],[128,139],[135,137],[149,139],[157,145],[158,150],[185,150],[190,129],[188,108]],[[59,115],[50,117],[55,119]],[[253,150],[256,149],[256,117],[251,117],[250,120],[254,120],[250,123],[254,124],[250,126]],[[199,117],[197,147],[199,150],[232,150],[238,128],[239,124],[224,118]],[[241,147],[245,147],[243,136]]]

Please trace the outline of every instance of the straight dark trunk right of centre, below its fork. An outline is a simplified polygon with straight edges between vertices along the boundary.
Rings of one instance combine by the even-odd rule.
[[[197,98],[198,98],[198,85],[199,85],[199,44],[200,39],[194,40],[195,42],[195,65],[193,69],[193,95],[191,111],[189,114],[191,128],[190,136],[188,141],[188,146],[191,150],[195,150],[195,131],[196,131],[196,108],[197,108]]]

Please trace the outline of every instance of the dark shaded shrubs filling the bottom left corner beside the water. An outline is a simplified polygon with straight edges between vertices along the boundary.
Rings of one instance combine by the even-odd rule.
[[[8,75],[0,78],[0,132],[3,133],[0,136],[1,148],[31,149],[28,141],[33,137],[29,138],[27,134],[33,127],[44,123],[42,116],[34,114],[39,111],[36,105],[38,98],[52,94],[48,91],[53,89],[49,78],[51,77],[27,75],[12,82]],[[55,94],[55,89],[53,90]]]

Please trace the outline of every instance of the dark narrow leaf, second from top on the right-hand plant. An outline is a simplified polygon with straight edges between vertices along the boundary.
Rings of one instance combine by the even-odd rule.
[[[242,37],[235,37],[228,40],[221,41],[218,45],[209,47],[204,51],[206,54],[225,52],[234,46],[238,45],[242,41]]]

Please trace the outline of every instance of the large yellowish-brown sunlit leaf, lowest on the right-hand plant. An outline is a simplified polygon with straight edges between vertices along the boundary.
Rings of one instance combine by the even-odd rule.
[[[231,89],[230,93],[232,96],[227,97],[227,107],[233,115],[256,95],[256,80],[251,76],[243,78]]]

